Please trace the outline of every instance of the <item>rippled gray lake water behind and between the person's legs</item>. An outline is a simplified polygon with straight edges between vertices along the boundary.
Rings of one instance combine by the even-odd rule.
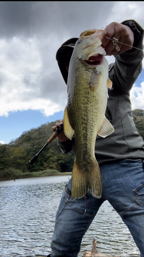
[[[0,181],[0,256],[47,256],[68,175]],[[140,256],[117,212],[105,201],[83,237],[81,251]]]

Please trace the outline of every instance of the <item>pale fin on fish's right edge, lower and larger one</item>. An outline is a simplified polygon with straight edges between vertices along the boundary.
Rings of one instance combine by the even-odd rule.
[[[100,130],[97,132],[101,137],[107,137],[114,132],[114,127],[106,117],[103,120]]]

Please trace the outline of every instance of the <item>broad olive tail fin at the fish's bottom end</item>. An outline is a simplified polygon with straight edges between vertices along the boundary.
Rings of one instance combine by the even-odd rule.
[[[83,171],[76,159],[71,176],[71,195],[73,199],[76,199],[83,197],[87,192],[96,198],[101,198],[102,185],[99,165],[95,160],[90,170]]]

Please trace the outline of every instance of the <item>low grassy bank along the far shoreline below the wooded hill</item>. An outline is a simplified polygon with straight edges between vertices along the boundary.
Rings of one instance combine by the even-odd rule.
[[[31,178],[31,177],[46,177],[56,175],[71,175],[71,172],[61,173],[57,170],[43,170],[38,172],[25,172],[21,170],[15,170],[13,168],[5,169],[1,171],[0,180],[20,179],[20,178]]]

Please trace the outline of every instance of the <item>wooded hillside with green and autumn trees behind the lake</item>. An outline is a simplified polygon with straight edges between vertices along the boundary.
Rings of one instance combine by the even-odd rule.
[[[144,139],[144,111],[135,109],[133,120],[139,134]],[[56,121],[32,128],[30,131],[23,132],[19,138],[9,144],[0,144],[0,172],[9,168],[21,170],[23,173],[46,169],[71,172],[74,164],[73,152],[64,155],[56,139],[45,148],[32,166],[29,164],[29,160],[41,150],[52,135],[51,127],[55,123]]]

